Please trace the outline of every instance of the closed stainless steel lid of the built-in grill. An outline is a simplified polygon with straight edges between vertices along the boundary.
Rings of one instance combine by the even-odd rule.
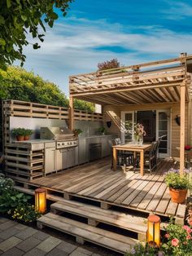
[[[74,139],[75,135],[67,127],[41,127],[41,139]]]

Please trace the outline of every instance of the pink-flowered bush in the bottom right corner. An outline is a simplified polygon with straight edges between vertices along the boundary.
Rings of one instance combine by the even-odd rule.
[[[170,223],[165,228],[166,234],[162,245],[165,255],[191,255],[192,251],[192,229],[187,226]]]

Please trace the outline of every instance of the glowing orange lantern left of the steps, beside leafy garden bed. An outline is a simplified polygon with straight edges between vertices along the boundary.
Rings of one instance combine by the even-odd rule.
[[[46,189],[37,188],[35,190],[35,208],[41,214],[46,212]]]

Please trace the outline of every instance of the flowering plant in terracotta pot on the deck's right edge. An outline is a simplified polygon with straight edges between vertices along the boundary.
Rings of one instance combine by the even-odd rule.
[[[172,201],[181,204],[185,201],[187,189],[191,188],[189,174],[187,170],[181,176],[179,170],[168,170],[165,176]]]

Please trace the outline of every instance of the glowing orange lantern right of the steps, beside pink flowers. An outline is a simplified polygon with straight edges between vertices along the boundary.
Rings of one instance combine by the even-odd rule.
[[[150,215],[147,223],[147,242],[151,247],[160,245],[160,218],[157,215]]]

